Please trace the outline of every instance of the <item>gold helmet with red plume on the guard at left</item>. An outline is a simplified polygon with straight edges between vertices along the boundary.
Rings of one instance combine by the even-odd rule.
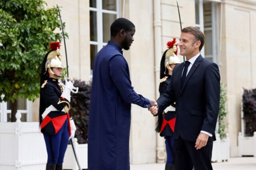
[[[53,73],[53,70],[51,69],[51,67],[65,68],[59,59],[59,57],[60,57],[60,53],[59,53],[60,42],[51,42],[50,48],[52,51],[47,55],[47,60],[45,63],[45,70],[47,71],[47,69],[49,69],[50,72],[53,75],[55,75]]]

